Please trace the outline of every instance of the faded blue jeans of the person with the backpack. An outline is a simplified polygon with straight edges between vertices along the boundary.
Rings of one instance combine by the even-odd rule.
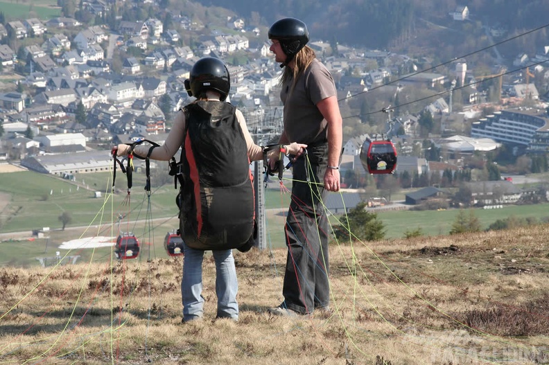
[[[202,260],[204,251],[183,247],[183,278],[181,294],[183,301],[183,321],[200,319],[204,314],[202,297]],[[212,251],[216,261],[217,317],[238,320],[238,281],[232,250]]]

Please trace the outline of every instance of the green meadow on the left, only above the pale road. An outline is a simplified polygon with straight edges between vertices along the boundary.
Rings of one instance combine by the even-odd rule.
[[[128,215],[130,224],[134,224],[134,220],[145,219],[148,210],[144,175],[135,172],[129,202],[127,180],[120,172],[116,175],[114,194],[110,194],[113,177],[108,172],[77,174],[75,181],[31,171],[1,176],[1,232],[29,231],[46,226],[59,228],[61,222],[58,217],[65,211],[72,217],[68,227],[111,222],[119,214]],[[101,197],[96,197],[96,192],[101,193]],[[173,181],[153,187],[150,216],[164,218],[177,215],[176,195]],[[276,189],[266,190],[265,206],[268,208],[286,208],[288,204],[288,194],[281,195]]]

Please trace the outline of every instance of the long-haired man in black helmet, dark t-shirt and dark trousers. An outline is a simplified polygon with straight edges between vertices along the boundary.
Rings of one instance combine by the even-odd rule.
[[[331,73],[307,46],[306,24],[295,18],[280,19],[272,24],[268,36],[270,51],[284,67],[280,92],[284,130],[279,143],[308,145],[307,154],[293,163],[285,226],[284,301],[268,310],[296,316],[329,310],[328,220],[322,202],[327,192],[340,189],[342,117]],[[271,166],[275,160],[270,160]]]

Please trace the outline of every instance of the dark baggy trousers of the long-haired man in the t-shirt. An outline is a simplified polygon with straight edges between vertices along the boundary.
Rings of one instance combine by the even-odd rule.
[[[307,148],[308,157],[293,166],[292,202],[286,218],[288,247],[282,306],[302,314],[326,308],[330,301],[328,279],[328,220],[323,202],[328,145]],[[311,181],[308,184],[307,181]]]

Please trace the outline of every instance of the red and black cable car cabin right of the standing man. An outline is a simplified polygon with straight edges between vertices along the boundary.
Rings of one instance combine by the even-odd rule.
[[[370,174],[392,174],[397,168],[397,150],[388,139],[366,139],[360,150],[360,162]]]

